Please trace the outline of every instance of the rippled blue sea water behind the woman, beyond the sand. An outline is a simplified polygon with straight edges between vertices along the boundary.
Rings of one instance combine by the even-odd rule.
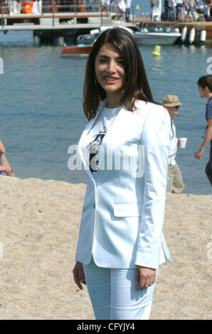
[[[0,57],[4,61],[0,139],[18,178],[69,183],[86,180],[83,171],[68,169],[68,147],[78,142],[85,125],[82,97],[86,58],[61,58],[61,49],[53,45],[35,47],[31,32],[0,34]],[[164,95],[173,94],[184,104],[174,119],[177,136],[188,138],[186,149],[179,148],[176,156],[186,185],[184,193],[211,194],[204,173],[209,146],[202,160],[194,158],[206,127],[207,102],[201,99],[196,81],[207,74],[211,48],[163,46],[159,59],[152,57],[154,46],[140,50],[154,99],[162,102]]]

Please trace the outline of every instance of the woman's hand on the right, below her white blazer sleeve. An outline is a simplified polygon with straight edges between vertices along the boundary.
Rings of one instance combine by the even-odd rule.
[[[147,289],[154,284],[156,279],[156,269],[147,268],[147,266],[136,266],[135,269],[135,281],[136,289]]]

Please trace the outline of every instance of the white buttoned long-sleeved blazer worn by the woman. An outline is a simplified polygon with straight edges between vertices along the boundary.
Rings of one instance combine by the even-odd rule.
[[[89,264],[92,256],[97,266],[120,269],[136,264],[158,269],[171,261],[162,233],[171,120],[157,104],[135,105],[135,112],[120,109],[102,139],[96,178],[85,160],[84,139],[105,101],[78,142],[78,155],[88,173],[75,257],[83,264]]]

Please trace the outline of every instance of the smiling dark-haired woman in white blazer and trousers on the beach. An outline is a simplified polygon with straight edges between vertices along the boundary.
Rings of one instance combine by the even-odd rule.
[[[171,141],[169,113],[153,103],[142,57],[122,28],[104,31],[88,57],[88,119],[78,153],[88,173],[73,269],[96,319],[147,319],[159,264]]]

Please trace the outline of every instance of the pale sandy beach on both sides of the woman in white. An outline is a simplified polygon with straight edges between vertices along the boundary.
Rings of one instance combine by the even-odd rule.
[[[94,319],[73,281],[84,184],[0,177],[0,318]],[[211,319],[212,195],[167,194],[150,319]]]

